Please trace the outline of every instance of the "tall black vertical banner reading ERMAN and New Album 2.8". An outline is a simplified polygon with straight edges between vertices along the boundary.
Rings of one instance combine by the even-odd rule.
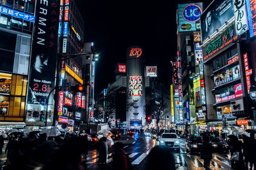
[[[36,1],[28,104],[45,101],[54,87],[59,15],[60,1]]]

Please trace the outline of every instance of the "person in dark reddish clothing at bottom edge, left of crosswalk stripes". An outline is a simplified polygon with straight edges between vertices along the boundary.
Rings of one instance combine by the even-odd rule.
[[[116,142],[114,147],[113,170],[131,170],[132,164],[129,156],[125,154],[123,143]]]

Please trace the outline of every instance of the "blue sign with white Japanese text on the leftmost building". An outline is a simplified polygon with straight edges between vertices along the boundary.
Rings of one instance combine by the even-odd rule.
[[[0,13],[10,15],[12,17],[22,18],[30,22],[35,22],[35,16],[20,11],[12,10],[3,6],[0,6]]]

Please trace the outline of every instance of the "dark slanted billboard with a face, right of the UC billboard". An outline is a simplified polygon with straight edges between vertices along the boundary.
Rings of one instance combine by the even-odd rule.
[[[213,1],[200,17],[202,41],[234,17],[232,0]]]

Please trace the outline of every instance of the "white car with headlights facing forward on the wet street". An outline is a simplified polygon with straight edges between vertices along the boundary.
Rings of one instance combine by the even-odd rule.
[[[173,148],[174,150],[180,150],[179,136],[175,133],[163,133],[161,135],[159,145],[166,146],[167,148]]]

